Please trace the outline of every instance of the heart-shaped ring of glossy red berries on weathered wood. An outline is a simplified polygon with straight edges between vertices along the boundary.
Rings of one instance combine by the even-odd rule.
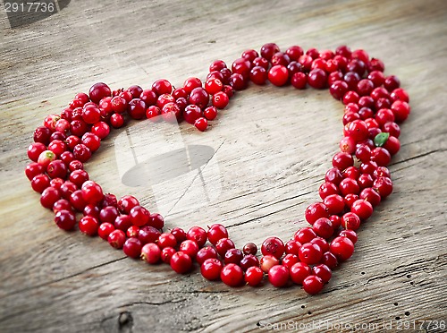
[[[84,163],[107,137],[110,125],[122,127],[126,114],[153,122],[184,119],[205,131],[234,91],[244,90],[249,81],[262,85],[267,80],[297,89],[329,87],[333,98],[342,100],[345,113],[341,151],[333,156],[333,167],[319,188],[321,201],[305,212],[310,226],[285,244],[267,238],[260,260],[256,244],[237,249],[220,224],[208,230],[194,226],[187,232],[179,227],[163,232],[161,215],[151,214],[133,196],[117,200],[89,180]],[[190,78],[174,89],[169,81],[158,80],[150,90],[131,86],[114,91],[105,83],[93,85],[89,94],[77,94],[61,115],[48,115],[36,129],[28,149],[33,162],[25,173],[41,193],[42,206],[53,209],[55,224],[63,230],[78,224],[80,232],[99,235],[131,258],[151,264],[164,261],[181,274],[190,272],[196,260],[203,277],[221,279],[228,286],[258,286],[266,274],[273,286],[293,282],[316,294],[332,277],[332,269],[354,252],[360,224],[392,192],[386,166],[400,149],[399,123],[409,116],[408,103],[400,81],[384,76],[382,61],[369,58],[364,50],[351,52],[343,46],[335,52],[311,48],[304,53],[293,46],[281,52],[270,43],[260,54],[243,52],[231,69],[222,60],[213,62],[205,84]],[[83,214],[79,221],[77,211]]]

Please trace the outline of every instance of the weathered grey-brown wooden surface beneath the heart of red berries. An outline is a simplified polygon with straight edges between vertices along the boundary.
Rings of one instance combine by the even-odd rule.
[[[0,8],[0,331],[447,331],[447,2],[80,0],[15,29]],[[299,286],[232,289],[198,269],[180,276],[54,225],[23,174],[32,132],[46,115],[97,81],[148,88],[163,77],[178,86],[204,78],[215,59],[231,63],[271,41],[365,48],[410,96],[390,166],[394,193],[320,295]],[[201,182],[193,172],[161,184],[143,177],[134,186],[138,174],[124,182],[129,146],[117,144],[120,131],[87,169],[106,192],[131,193],[160,210],[167,227],[220,222],[238,246],[268,235],[287,240],[318,200],[341,118],[327,91],[250,86],[209,131],[181,124],[165,134],[174,145],[209,148],[213,163]],[[131,125],[142,157],[165,148],[157,126]],[[438,328],[419,320],[438,320]]]

